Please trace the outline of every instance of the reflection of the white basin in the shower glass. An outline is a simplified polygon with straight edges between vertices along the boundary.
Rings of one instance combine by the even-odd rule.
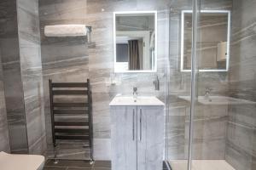
[[[190,101],[190,96],[179,96],[180,99],[185,99]],[[205,96],[198,96],[198,102],[203,105],[255,105],[256,103],[253,101],[249,101],[246,99],[236,99],[226,96],[209,96],[206,98]]]

